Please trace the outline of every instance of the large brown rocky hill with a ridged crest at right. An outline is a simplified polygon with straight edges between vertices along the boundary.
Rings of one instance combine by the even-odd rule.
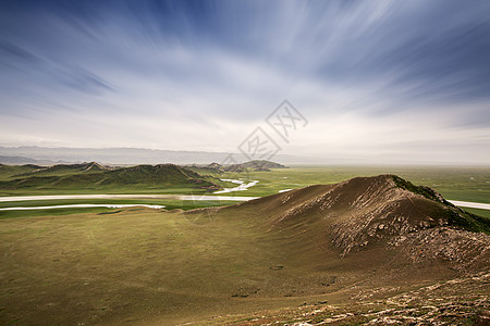
[[[299,243],[297,251],[308,250],[309,243],[341,258],[394,254],[392,264],[438,261],[458,271],[490,266],[487,218],[394,175],[309,186],[224,208],[219,215],[254,218],[270,235]]]

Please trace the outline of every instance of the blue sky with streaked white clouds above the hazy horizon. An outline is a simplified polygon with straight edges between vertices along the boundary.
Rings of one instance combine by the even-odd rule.
[[[478,0],[2,1],[0,146],[490,165],[489,35]]]

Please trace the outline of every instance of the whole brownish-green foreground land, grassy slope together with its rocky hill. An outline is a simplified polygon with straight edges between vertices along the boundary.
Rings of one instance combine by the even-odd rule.
[[[405,322],[480,321],[490,237],[467,229],[487,222],[413,190],[383,175],[226,208],[3,220],[0,322],[367,323],[405,301]],[[448,280],[434,306],[466,310],[425,310],[422,289]]]

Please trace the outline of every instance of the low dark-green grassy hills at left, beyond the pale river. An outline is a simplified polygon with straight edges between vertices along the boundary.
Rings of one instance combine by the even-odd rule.
[[[0,166],[0,190],[109,190],[151,189],[217,190],[221,187],[210,176],[201,176],[191,170],[174,165],[137,165],[108,167],[91,163],[59,164],[48,167],[36,165]]]

